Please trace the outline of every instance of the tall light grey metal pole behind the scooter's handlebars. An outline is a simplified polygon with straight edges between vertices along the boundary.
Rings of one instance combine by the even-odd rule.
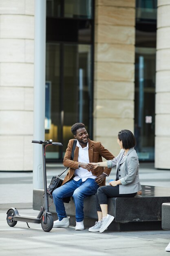
[[[46,55],[46,0],[35,0],[34,36],[34,136],[45,137],[45,55]],[[33,189],[44,189],[42,147],[33,144]]]

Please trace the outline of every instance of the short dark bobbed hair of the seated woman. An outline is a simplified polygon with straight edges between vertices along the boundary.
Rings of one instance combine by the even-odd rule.
[[[118,139],[122,141],[122,146],[124,149],[133,148],[136,145],[135,136],[130,130],[121,130],[118,133]]]

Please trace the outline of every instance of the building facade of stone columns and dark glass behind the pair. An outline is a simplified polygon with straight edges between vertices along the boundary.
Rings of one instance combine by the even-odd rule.
[[[0,171],[33,169],[35,1],[0,1]],[[63,144],[49,162],[83,122],[114,155],[132,130],[140,161],[170,169],[168,2],[46,1],[44,133]]]

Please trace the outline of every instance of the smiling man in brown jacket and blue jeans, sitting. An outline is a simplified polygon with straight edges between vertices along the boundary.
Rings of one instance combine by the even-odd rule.
[[[94,195],[99,186],[104,186],[106,176],[111,169],[97,167],[94,169],[91,162],[102,162],[102,157],[111,160],[114,156],[102,146],[100,142],[92,141],[88,138],[88,133],[84,124],[77,123],[71,128],[77,144],[74,151],[74,159],[71,160],[71,152],[74,139],[70,139],[64,156],[63,164],[70,167],[62,186],[53,191],[53,200],[58,215],[58,220],[54,221],[55,227],[68,227],[69,218],[63,203],[63,198],[73,196],[75,203],[75,230],[84,229],[84,198]]]

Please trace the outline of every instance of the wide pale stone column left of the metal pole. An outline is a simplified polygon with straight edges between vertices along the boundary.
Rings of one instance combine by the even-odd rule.
[[[33,169],[34,0],[0,1],[0,171]]]

